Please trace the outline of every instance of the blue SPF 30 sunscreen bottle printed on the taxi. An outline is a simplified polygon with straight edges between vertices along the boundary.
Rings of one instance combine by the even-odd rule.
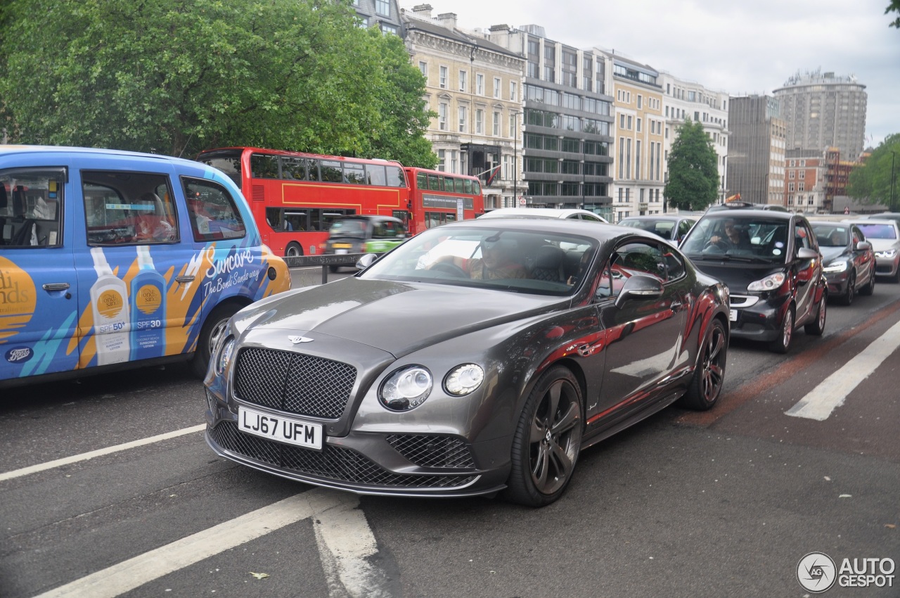
[[[147,245],[138,246],[138,274],[131,280],[131,359],[166,355],[166,278]]]

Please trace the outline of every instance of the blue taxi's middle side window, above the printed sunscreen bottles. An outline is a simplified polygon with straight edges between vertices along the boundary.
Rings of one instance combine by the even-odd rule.
[[[146,245],[179,239],[175,202],[166,175],[84,171],[87,244]]]

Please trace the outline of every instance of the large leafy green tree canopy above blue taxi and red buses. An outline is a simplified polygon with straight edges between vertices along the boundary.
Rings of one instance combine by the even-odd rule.
[[[12,0],[0,23],[14,141],[437,161],[419,71],[397,62],[400,40],[358,27],[348,2]]]

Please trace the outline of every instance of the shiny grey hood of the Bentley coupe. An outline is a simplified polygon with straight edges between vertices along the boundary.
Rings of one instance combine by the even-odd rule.
[[[254,331],[317,332],[401,357],[568,304],[568,298],[451,285],[345,278],[244,310]]]

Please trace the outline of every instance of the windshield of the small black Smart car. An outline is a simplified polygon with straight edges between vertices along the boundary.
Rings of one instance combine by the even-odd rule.
[[[788,221],[718,212],[701,218],[681,249],[693,259],[783,262],[788,252]]]

